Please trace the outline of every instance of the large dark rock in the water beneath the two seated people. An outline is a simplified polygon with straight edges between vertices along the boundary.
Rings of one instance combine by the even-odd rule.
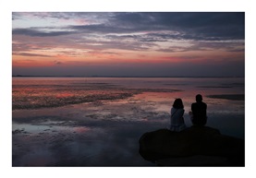
[[[140,137],[140,155],[160,166],[244,166],[245,142],[208,126],[159,129]]]

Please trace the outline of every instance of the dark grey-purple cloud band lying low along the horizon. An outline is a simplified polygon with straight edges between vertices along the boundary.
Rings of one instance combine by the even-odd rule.
[[[193,58],[192,58],[193,59]],[[54,65],[38,67],[14,66],[13,75],[47,75],[50,76],[127,76],[127,77],[244,77],[244,62],[222,62],[217,63],[213,59],[207,59],[208,63],[186,62],[181,64],[110,64],[110,65],[88,65],[80,64],[79,66]]]

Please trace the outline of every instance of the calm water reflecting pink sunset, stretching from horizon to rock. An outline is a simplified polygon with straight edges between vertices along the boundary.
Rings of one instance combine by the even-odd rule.
[[[13,77],[13,166],[153,166],[140,136],[201,93],[208,126],[244,138],[244,78]]]

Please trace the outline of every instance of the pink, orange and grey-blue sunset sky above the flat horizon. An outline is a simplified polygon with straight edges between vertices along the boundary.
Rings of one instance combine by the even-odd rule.
[[[12,12],[12,75],[244,73],[243,12]]]

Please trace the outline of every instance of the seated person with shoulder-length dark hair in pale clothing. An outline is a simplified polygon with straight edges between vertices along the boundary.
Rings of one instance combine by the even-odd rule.
[[[173,107],[171,109],[171,119],[170,119],[170,130],[179,132],[186,128],[184,123],[184,105],[181,99],[176,99],[174,101]]]

